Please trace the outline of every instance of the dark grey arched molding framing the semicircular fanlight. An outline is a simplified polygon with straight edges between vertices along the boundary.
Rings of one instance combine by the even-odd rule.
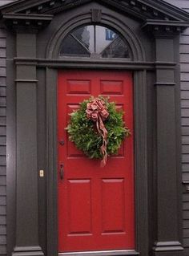
[[[141,44],[139,38],[133,33],[130,26],[127,26],[127,23],[119,18],[115,18],[111,15],[102,14],[100,22],[91,22],[91,12],[86,14],[80,14],[75,16],[74,18],[70,18],[66,21],[63,21],[60,26],[55,31],[54,35],[51,37],[48,46],[46,48],[46,59],[63,59],[59,58],[59,51],[61,49],[62,40],[66,38],[66,35],[69,35],[70,31],[74,30],[79,26],[87,26],[89,24],[95,24],[99,26],[106,26],[112,30],[115,30],[119,35],[121,35],[122,39],[127,42],[127,46],[129,47],[131,58],[130,59],[111,59],[111,63],[123,63],[123,62],[135,62],[135,61],[145,61],[146,56],[144,53],[143,45]],[[64,58],[66,62],[73,61],[75,59],[76,62],[81,61],[81,57],[73,57],[73,58]],[[92,61],[93,59],[90,58]],[[96,59],[109,63],[109,58]],[[88,59],[86,59],[88,62]]]

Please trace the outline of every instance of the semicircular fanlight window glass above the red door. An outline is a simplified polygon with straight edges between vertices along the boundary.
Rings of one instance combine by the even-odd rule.
[[[80,26],[62,41],[60,57],[131,58],[127,43],[105,26]]]

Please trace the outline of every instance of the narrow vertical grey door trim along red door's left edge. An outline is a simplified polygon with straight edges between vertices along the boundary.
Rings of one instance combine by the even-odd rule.
[[[46,68],[47,255],[58,254],[57,71]]]

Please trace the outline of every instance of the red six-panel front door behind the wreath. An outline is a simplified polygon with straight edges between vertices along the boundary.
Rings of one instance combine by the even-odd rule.
[[[131,136],[100,168],[68,140],[69,113],[90,95],[110,96],[123,108]],[[58,72],[58,251],[121,250],[135,247],[132,73]],[[62,145],[60,141],[64,141]]]

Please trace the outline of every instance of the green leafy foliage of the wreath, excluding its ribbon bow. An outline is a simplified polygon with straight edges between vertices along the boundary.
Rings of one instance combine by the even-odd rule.
[[[99,96],[98,98],[90,97],[88,100],[80,103],[77,111],[70,113],[70,124],[66,127],[69,133],[69,140],[74,142],[76,147],[90,158],[103,159],[103,153],[100,150],[103,144],[103,137],[95,128],[94,121],[86,117],[87,104],[92,100],[103,100],[109,116],[103,121],[107,129],[107,156],[115,155],[125,137],[130,136],[130,130],[125,126],[123,121],[123,111],[117,111],[114,102],[109,102],[108,98]]]

